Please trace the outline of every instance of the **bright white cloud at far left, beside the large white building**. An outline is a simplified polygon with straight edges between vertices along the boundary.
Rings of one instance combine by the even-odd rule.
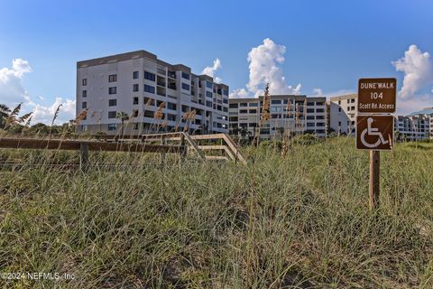
[[[23,103],[22,114],[33,112],[32,124],[43,122],[51,124],[52,117],[57,107],[60,107],[59,117],[56,124],[69,121],[75,117],[75,100],[69,98],[56,98],[50,106],[43,106],[32,101],[27,91],[23,87],[24,74],[32,72],[32,67],[28,61],[15,59],[12,61],[12,68],[0,69],[0,103],[8,107],[16,107]],[[43,100],[41,96],[37,97]]]

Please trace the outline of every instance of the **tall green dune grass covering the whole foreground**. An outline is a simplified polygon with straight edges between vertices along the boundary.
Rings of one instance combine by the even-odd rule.
[[[368,210],[368,154],[351,138],[247,147],[248,165],[91,154],[88,172],[0,172],[0,271],[73,280],[16,288],[431,288],[433,144],[382,153]],[[428,149],[426,149],[426,147]],[[59,152],[2,151],[29,163]],[[72,162],[72,161],[71,161]],[[134,163],[134,166],[129,164]]]

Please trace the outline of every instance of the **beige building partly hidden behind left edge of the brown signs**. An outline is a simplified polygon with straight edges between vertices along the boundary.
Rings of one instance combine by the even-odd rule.
[[[337,135],[355,135],[357,94],[329,99],[329,126]]]

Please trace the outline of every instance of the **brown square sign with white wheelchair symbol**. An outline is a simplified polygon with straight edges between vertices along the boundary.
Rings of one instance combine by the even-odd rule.
[[[361,150],[391,150],[394,140],[394,117],[356,117],[356,148]]]

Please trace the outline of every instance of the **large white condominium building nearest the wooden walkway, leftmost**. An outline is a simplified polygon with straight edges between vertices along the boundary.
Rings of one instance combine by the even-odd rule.
[[[77,62],[78,131],[141,135],[228,132],[229,88],[183,64],[133,51]],[[123,116],[123,120],[122,120]]]

